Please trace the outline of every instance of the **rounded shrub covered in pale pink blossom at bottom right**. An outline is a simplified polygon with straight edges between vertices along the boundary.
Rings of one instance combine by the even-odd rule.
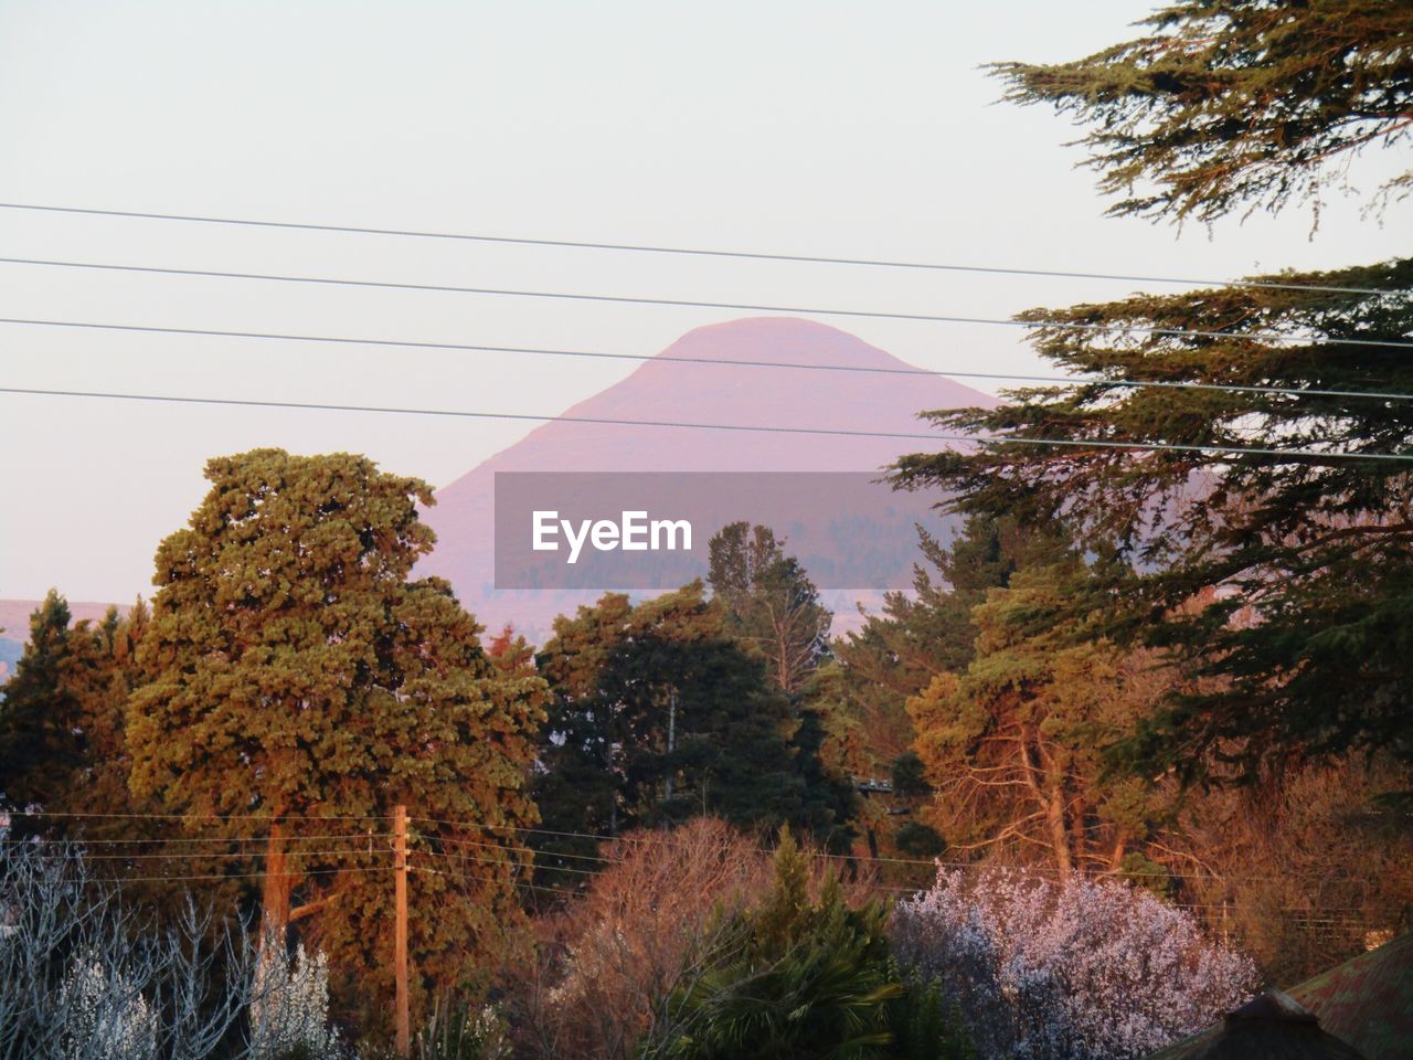
[[[1115,881],[941,872],[901,902],[904,970],[959,1005],[983,1057],[1145,1056],[1249,996],[1251,960],[1186,912]]]

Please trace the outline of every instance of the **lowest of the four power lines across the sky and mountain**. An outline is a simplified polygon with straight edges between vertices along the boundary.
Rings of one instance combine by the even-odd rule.
[[[136,394],[109,390],[49,390],[40,387],[0,387],[0,394],[23,394],[30,397],[90,397],[117,401],[153,401],[167,404],[233,406],[243,408],[298,408],[329,413],[377,413],[394,416],[442,416],[468,420],[509,420],[528,423],[578,423],[608,427],[670,427],[698,431],[745,431],[756,434],[807,434],[845,438],[899,438],[931,442],[958,442],[965,445],[1050,445],[1081,449],[1129,449],[1146,452],[1197,452],[1218,457],[1279,457],[1282,459],[1366,459],[1366,461],[1413,461],[1413,454],[1397,452],[1323,452],[1320,449],[1273,449],[1236,445],[1195,445],[1176,442],[1128,442],[1128,441],[1078,441],[1074,438],[972,438],[950,434],[911,434],[906,431],[859,431],[844,427],[780,427],[773,424],[712,424],[681,423],[675,420],[617,420],[601,416],[543,416],[533,413],[483,413],[461,408],[406,408],[397,406],[331,404],[324,401],[268,401],[240,397],[192,397],[187,394]],[[333,820],[333,818],[328,818]],[[366,820],[366,818],[353,818]]]

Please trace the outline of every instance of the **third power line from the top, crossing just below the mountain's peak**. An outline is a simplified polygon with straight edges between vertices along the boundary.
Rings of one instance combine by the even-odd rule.
[[[800,363],[788,360],[725,360],[721,358],[692,358],[670,356],[661,358],[654,353],[601,353],[596,351],[579,349],[547,349],[541,346],[489,346],[469,342],[421,342],[408,339],[369,339],[345,338],[339,335],[300,335],[266,331],[223,331],[215,328],[168,328],[147,324],[99,324],[90,321],[52,321],[31,319],[25,317],[0,317],[0,324],[18,324],[37,328],[78,328],[88,331],[117,331],[141,332],[144,335],[201,335],[208,338],[226,339],[271,339],[280,342],[322,342],[349,346],[396,346],[406,349],[439,349],[466,351],[482,353],[530,353],[551,358],[592,358],[603,360],[637,360],[654,362],[660,365],[722,365],[742,367],[788,367],[805,372],[853,372],[883,376],[938,376],[958,379],[1000,379],[1020,383],[1060,383],[1065,386],[1116,386],[1116,387],[1164,387],[1173,390],[1214,390],[1222,393],[1255,393],[1255,394],[1289,394],[1294,397],[1358,397],[1383,401],[1413,400],[1413,393],[1399,393],[1388,390],[1325,390],[1317,387],[1280,387],[1280,386],[1236,386],[1234,383],[1195,383],[1176,380],[1136,380],[1136,379],[1105,379],[1102,376],[1024,376],[993,372],[954,372],[948,369],[930,367],[879,367],[869,365],[824,365]]]

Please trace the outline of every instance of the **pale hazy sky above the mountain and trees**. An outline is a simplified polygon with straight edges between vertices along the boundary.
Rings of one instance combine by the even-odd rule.
[[[0,201],[1109,273],[1406,252],[1332,204],[1208,233],[1102,218],[1043,109],[978,65],[1068,59],[1150,4],[0,0]],[[1379,163],[1356,168],[1373,185]],[[1402,230],[1400,230],[1402,228]],[[1007,317],[1133,284],[0,209],[0,256]],[[0,315],[656,353],[729,311],[0,264]],[[1039,367],[1015,329],[839,321],[917,365]],[[6,386],[561,411],[632,365],[0,325]],[[982,384],[995,390],[995,386]],[[846,410],[821,410],[821,425]],[[841,424],[846,425],[846,424]],[[0,596],[146,592],[203,461],[367,452],[445,483],[527,424],[0,396]]]

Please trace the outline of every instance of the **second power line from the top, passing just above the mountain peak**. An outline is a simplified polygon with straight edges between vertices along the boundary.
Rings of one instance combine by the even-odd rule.
[[[42,266],[47,269],[89,269],[112,273],[141,273],[148,276],[192,276],[208,280],[260,280],[267,283],[321,284],[326,287],[359,287],[389,291],[434,291],[439,294],[485,294],[503,298],[557,298],[561,301],[610,302],[616,305],[666,305],[690,310],[736,310],[746,312],[814,314],[817,317],[849,317],[885,321],[916,321],[924,324],[982,324],[1002,328],[1070,328],[1106,335],[1150,335],[1166,338],[1204,339],[1248,339],[1263,342],[1306,342],[1321,346],[1375,346],[1379,349],[1413,349],[1413,342],[1389,342],[1383,339],[1317,339],[1300,335],[1286,335],[1277,331],[1184,331],[1180,328],[1142,328],[1135,325],[1108,324],[1041,324],[1000,317],[955,317],[926,312],[885,312],[880,310],[825,310],[805,305],[757,305],[753,302],[708,302],[688,298],[647,298],[619,294],[581,294],[574,291],[531,291],[507,287],[458,287],[454,284],[414,284],[393,280],[349,280],[328,276],[285,276],[283,273],[235,273],[219,269],[177,269],[164,266],[113,264],[106,261],[61,261],[41,257],[0,257],[0,264]]]

